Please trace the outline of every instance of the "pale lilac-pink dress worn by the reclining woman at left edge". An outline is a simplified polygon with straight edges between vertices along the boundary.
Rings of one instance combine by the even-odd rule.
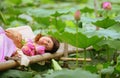
[[[10,57],[15,51],[15,44],[6,36],[5,31],[0,27],[0,62],[4,62],[5,56]]]

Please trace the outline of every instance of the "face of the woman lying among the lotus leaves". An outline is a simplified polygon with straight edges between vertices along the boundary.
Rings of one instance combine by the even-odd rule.
[[[51,50],[53,48],[53,41],[50,37],[48,36],[43,36],[39,39],[37,42],[39,45],[45,46],[46,50]]]

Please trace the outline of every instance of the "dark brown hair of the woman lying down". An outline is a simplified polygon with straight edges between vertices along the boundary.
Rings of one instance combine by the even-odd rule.
[[[41,34],[37,34],[37,36],[35,37],[35,42],[37,42],[42,36],[43,35],[41,35]],[[58,48],[60,46],[60,43],[56,38],[53,38],[52,36],[48,36],[48,37],[50,37],[51,40],[53,41],[53,47],[52,47],[51,50],[45,50],[45,52],[47,52],[47,53],[55,53],[58,50]]]

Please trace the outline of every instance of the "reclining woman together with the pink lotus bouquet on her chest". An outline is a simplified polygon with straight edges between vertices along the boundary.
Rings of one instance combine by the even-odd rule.
[[[45,52],[55,53],[59,46],[58,40],[51,36],[42,36],[41,34],[38,34],[34,40],[28,39],[22,44],[22,36],[20,33],[13,30],[4,31],[0,27],[0,62],[6,61],[6,56],[18,56],[21,60],[26,59],[29,63],[26,56],[42,55]]]

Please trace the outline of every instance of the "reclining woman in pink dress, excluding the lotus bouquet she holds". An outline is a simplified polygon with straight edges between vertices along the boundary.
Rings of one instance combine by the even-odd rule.
[[[6,45],[4,45],[4,42],[6,42]],[[2,43],[0,44],[0,50],[1,50],[0,62],[5,61],[4,60],[5,56],[8,56],[8,57],[12,56],[12,54],[15,53],[17,48],[21,49],[24,46],[26,46],[26,45],[23,46],[21,42],[22,42],[22,36],[20,35],[20,33],[12,30],[4,31],[0,27],[0,43]],[[49,53],[55,53],[60,46],[59,41],[56,40],[55,38],[51,36],[42,36],[41,34],[38,34],[35,37],[33,43],[45,47],[45,52],[49,52]],[[6,48],[3,48],[3,47],[6,47],[7,50],[9,51],[7,51]]]

